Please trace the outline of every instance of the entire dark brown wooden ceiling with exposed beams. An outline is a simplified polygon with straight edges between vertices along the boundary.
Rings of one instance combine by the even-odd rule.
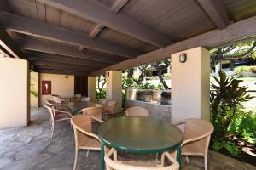
[[[0,50],[39,72],[98,74],[255,15],[255,0],[2,0],[1,40],[17,54]]]

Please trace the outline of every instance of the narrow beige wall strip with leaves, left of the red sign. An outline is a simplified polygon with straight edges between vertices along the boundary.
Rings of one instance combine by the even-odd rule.
[[[30,73],[30,90],[34,93],[38,94],[37,96],[34,94],[30,94],[30,106],[38,107],[39,105],[39,74],[38,72]]]

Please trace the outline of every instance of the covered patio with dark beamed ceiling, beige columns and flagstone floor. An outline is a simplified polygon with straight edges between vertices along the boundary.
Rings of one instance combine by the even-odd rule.
[[[106,98],[115,107],[99,122],[124,116],[122,70],[163,59],[172,60],[172,102],[167,109],[157,107],[151,118],[209,122],[208,50],[255,37],[254,0],[3,0],[0,169],[72,169],[73,127],[56,122],[51,138],[52,121],[43,106],[59,96],[70,112],[68,121],[84,114],[71,101],[84,98],[101,107],[96,76],[103,74]],[[100,169],[100,152],[86,155],[79,151],[76,169]],[[123,157],[155,161],[151,154]],[[184,158],[181,169],[204,169],[201,157],[192,156],[189,163]],[[255,167],[209,150],[208,169]]]

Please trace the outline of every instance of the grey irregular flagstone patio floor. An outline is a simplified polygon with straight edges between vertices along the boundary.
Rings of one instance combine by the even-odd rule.
[[[79,152],[77,170],[99,169],[99,151],[90,151],[89,157],[85,156],[85,150]],[[0,130],[1,170],[72,170],[73,159],[74,140],[70,124],[57,122],[54,137],[50,139],[49,113],[44,108],[32,109],[29,127]],[[189,160],[189,164],[183,160],[183,170],[204,169],[202,158]],[[218,169],[256,170],[256,167],[210,151],[209,170]]]

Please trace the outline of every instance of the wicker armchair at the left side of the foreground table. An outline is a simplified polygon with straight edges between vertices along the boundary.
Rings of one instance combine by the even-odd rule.
[[[92,133],[91,122],[94,117],[90,115],[77,115],[71,119],[75,136],[75,160],[73,170],[76,169],[78,163],[79,150],[101,150],[101,141],[98,136]],[[102,121],[100,121],[102,122]]]

